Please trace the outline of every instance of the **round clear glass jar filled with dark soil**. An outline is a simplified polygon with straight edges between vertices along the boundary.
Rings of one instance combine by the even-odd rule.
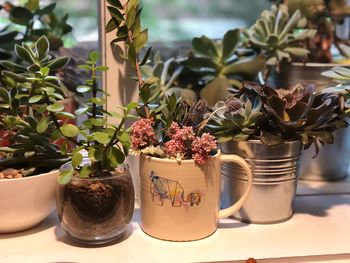
[[[60,169],[70,166],[67,163]],[[68,184],[57,186],[61,226],[82,243],[103,244],[115,240],[126,230],[133,211],[134,187],[126,164],[108,177],[73,177]]]

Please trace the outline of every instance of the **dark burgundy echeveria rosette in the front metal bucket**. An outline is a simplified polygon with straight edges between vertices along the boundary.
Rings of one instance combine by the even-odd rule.
[[[291,91],[267,86],[253,90],[263,100],[264,116],[257,126],[261,141],[267,145],[291,140],[302,140],[306,146],[317,145],[317,141],[333,143],[332,132],[348,125],[341,118],[344,98],[339,93],[315,93],[313,86],[302,85]]]

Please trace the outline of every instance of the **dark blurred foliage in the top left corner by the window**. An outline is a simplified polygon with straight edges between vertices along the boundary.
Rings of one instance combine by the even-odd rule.
[[[0,58],[9,59],[15,43],[35,42],[42,35],[49,40],[52,50],[63,45],[62,38],[72,31],[68,14],[55,15],[56,3],[40,6],[38,0],[28,0],[24,6],[10,2],[0,5],[8,13],[10,24],[0,32]],[[43,47],[43,50],[47,50]]]

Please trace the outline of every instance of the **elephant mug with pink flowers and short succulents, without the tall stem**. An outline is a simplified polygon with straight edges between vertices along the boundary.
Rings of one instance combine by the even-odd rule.
[[[145,101],[143,101],[145,102]],[[251,172],[242,158],[222,155],[214,137],[199,129],[206,102],[189,106],[166,97],[131,127],[132,150],[140,154],[140,226],[170,241],[205,238],[219,218],[235,213],[251,189]],[[235,163],[247,175],[240,199],[220,210],[220,165]]]

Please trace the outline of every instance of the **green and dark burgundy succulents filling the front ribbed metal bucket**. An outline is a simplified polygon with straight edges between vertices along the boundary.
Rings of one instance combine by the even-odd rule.
[[[347,127],[344,98],[340,93],[315,93],[313,86],[274,90],[246,82],[226,102],[219,102],[206,120],[206,127],[219,141],[260,140],[268,146],[300,140],[333,143],[332,133]]]

